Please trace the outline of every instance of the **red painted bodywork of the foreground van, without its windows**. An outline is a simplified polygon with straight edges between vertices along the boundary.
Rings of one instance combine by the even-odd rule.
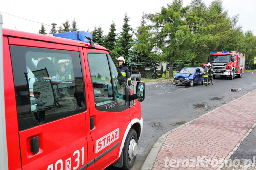
[[[79,52],[83,67],[86,110],[32,128],[19,130],[9,45]],[[106,112],[96,109],[87,53],[109,53],[109,50],[99,45],[95,45],[94,49],[89,47],[88,43],[80,41],[3,29],[5,117],[10,170],[57,170],[65,169],[67,164],[70,164],[71,169],[79,169],[89,162],[93,163],[84,168],[88,170],[104,169],[119,159],[129,128],[142,120],[140,103],[136,100],[133,107],[122,112]],[[60,83],[52,81],[52,85],[55,84]],[[20,85],[19,88],[27,89],[28,86]],[[30,94],[32,95],[31,92]],[[90,130],[90,118],[92,117],[94,118],[94,128]],[[113,130],[118,130],[118,138],[113,144],[96,152],[96,141],[114,132]],[[137,130],[137,132],[141,131]],[[31,152],[30,142],[34,137],[38,137],[40,143],[37,154]],[[106,137],[105,141],[107,140]],[[109,149],[112,150],[101,156]],[[100,158],[94,162],[97,157]]]

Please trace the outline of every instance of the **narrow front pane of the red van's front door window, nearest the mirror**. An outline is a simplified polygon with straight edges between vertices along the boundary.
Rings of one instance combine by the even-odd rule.
[[[113,83],[114,83],[115,100],[117,101],[119,106],[123,106],[126,103],[126,100],[125,100],[126,99],[126,97],[125,97],[125,91],[126,91],[125,90],[125,88],[126,88],[125,80],[124,80],[122,74],[120,73],[120,71],[118,71],[119,69],[115,65],[112,57],[108,55],[108,59],[109,59],[109,65],[110,65],[112,78],[113,78]]]

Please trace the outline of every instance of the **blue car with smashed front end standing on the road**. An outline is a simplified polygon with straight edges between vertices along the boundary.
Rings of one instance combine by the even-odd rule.
[[[202,67],[184,67],[180,72],[174,74],[173,83],[175,85],[187,84],[193,86],[194,83],[199,82],[203,84]]]

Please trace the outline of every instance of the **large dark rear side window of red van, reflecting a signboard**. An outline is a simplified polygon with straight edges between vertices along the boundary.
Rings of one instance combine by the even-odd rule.
[[[85,111],[80,53],[10,46],[19,130]]]

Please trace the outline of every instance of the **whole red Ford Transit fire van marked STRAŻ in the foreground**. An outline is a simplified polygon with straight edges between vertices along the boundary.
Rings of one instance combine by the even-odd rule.
[[[145,83],[132,94],[91,40],[2,29],[1,14],[0,23],[0,169],[130,169]]]

